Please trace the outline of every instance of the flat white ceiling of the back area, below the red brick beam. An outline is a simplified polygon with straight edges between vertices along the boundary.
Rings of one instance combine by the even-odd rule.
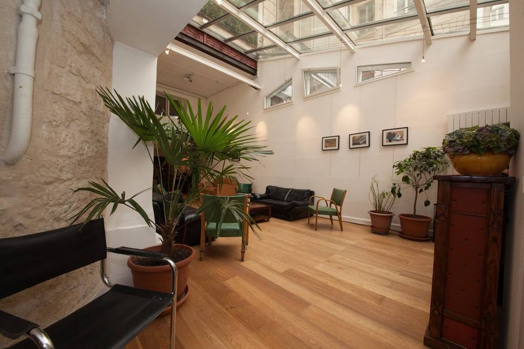
[[[183,47],[186,50],[198,53],[215,63],[226,67],[229,70],[242,74],[246,77],[252,77],[246,72],[243,72],[235,67],[224,63],[220,60],[214,59],[210,55],[204,54],[200,51],[192,49],[178,41],[173,41],[177,46]],[[192,83],[184,81],[186,74],[192,74]],[[181,91],[189,92],[193,95],[208,98],[216,92],[223,91],[226,88],[232,87],[240,81],[217,71],[205,64],[193,61],[181,54],[171,51],[169,54],[162,52],[158,57],[157,63],[157,83],[179,89]]]

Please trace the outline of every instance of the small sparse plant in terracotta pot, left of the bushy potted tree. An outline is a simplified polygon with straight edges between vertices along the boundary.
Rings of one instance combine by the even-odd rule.
[[[368,211],[371,218],[371,231],[378,234],[387,234],[391,228],[391,220],[395,213],[392,213],[391,207],[395,199],[401,197],[400,187],[394,183],[389,190],[382,190],[378,188],[377,175],[371,178],[371,185],[369,186],[369,202],[373,206],[373,210]]]

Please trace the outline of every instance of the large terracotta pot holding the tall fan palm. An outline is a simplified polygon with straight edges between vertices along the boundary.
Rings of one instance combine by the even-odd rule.
[[[189,257],[185,260],[175,263],[178,269],[178,283],[177,283],[177,308],[188,298],[188,277],[189,277],[189,265],[195,256],[194,250],[187,245],[174,244],[175,248],[191,251]],[[150,246],[144,250],[148,251],[160,251],[161,246]],[[137,257],[129,257],[127,260],[127,266],[131,269],[133,274],[133,286],[138,288],[145,288],[154,291],[171,293],[171,268],[169,265],[160,266],[141,266],[135,264]],[[166,315],[171,311],[171,307],[167,307],[162,311],[160,316]]]

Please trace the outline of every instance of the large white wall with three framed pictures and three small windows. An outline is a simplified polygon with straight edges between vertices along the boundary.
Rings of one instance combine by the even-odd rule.
[[[421,63],[421,41],[405,41],[302,56],[300,60],[259,63],[263,86],[256,91],[244,84],[219,95],[229,114],[253,120],[275,155],[253,170],[255,192],[265,186],[310,188],[329,196],[333,187],[347,189],[343,208],[346,221],[367,224],[370,178],[383,185],[394,175],[392,164],[412,150],[441,145],[452,112],[509,104],[508,32],[486,33],[471,42],[467,36],[433,40]],[[413,72],[354,86],[356,65],[412,61]],[[339,66],[340,92],[303,100],[301,69]],[[294,102],[263,112],[264,96],[294,75]],[[246,115],[246,111],[249,115]],[[409,127],[409,144],[381,146],[381,130]],[[348,149],[348,134],[370,131],[370,148]],[[323,136],[340,135],[340,150],[321,151]],[[413,193],[406,191],[395,213],[412,212]],[[430,191],[434,202],[436,186]],[[417,213],[433,216],[433,205],[418,203]],[[395,218],[394,223],[398,223]]]

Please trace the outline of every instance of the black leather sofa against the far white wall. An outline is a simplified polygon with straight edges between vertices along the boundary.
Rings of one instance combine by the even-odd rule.
[[[308,217],[310,196],[315,192],[310,189],[281,188],[274,185],[266,187],[266,193],[253,194],[253,202],[271,206],[271,217],[290,221]]]

